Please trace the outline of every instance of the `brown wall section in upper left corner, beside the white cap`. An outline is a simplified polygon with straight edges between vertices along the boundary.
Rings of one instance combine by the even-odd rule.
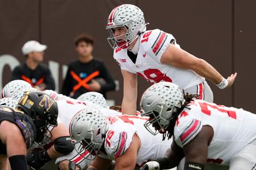
[[[24,62],[21,47],[38,39],[38,1],[0,1],[0,55],[10,54]],[[10,68],[5,67],[3,85],[10,80]],[[0,89],[1,90],[1,89]]]

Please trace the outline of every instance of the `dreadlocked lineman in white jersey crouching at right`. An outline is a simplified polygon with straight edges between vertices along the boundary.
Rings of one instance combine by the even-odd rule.
[[[256,168],[256,115],[183,96],[177,85],[156,83],[141,98],[141,115],[173,143],[164,157],[147,162],[141,169],[169,169],[186,157],[185,170],[204,169],[207,162],[229,169]],[[167,135],[166,135],[167,134]]]

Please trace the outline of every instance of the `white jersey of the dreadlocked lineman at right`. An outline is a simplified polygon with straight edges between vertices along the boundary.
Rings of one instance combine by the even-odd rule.
[[[177,145],[183,147],[203,125],[211,126],[214,136],[207,162],[229,164],[239,150],[256,139],[255,124],[256,115],[249,111],[196,100],[180,113],[173,134]]]

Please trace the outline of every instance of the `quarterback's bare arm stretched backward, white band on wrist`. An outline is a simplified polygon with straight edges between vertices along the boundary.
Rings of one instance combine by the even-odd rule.
[[[216,71],[216,69],[214,69],[214,67],[211,66],[211,64],[205,60],[199,59],[172,44],[169,45],[163,53],[161,62],[163,64],[169,64],[182,69],[191,69],[200,76],[211,80],[220,89],[231,87],[237,75],[237,73],[234,73],[225,79],[218,71]]]

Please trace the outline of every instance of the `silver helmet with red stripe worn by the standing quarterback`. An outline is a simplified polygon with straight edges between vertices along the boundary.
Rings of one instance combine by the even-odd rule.
[[[146,25],[143,11],[137,6],[133,4],[116,6],[109,14],[108,25],[106,26],[110,34],[108,38],[109,45],[113,49],[127,48],[132,41],[140,36],[141,32],[146,31]],[[112,29],[117,27],[125,27],[127,29],[126,34],[114,37]],[[125,42],[117,43],[116,39],[123,36],[125,37]]]

